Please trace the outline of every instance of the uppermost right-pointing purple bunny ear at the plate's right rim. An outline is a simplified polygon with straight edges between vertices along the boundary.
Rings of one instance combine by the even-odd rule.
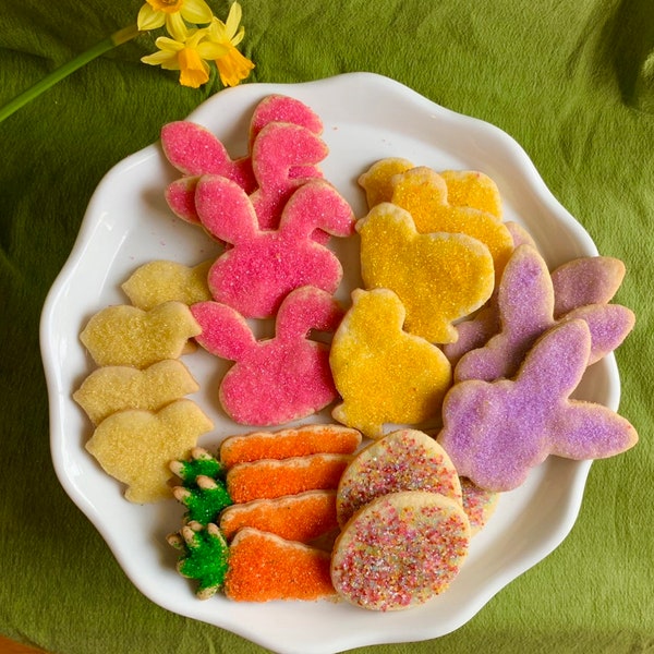
[[[585,256],[559,266],[552,272],[555,317],[586,304],[610,302],[625,272],[625,264],[610,256]]]

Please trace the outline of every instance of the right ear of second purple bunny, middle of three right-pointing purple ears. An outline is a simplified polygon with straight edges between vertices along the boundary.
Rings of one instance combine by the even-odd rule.
[[[635,315],[621,304],[591,304],[572,310],[562,319],[580,318],[591,330],[589,365],[618,348],[633,329]]]

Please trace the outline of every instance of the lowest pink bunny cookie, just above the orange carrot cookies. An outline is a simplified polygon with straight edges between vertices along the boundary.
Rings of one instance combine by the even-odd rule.
[[[276,336],[256,341],[245,319],[217,302],[194,304],[202,327],[197,342],[210,353],[235,361],[220,385],[220,402],[241,424],[279,425],[319,411],[336,398],[329,348],[307,340],[310,329],[331,331],[342,317],[336,300],[305,287],[279,307]]]

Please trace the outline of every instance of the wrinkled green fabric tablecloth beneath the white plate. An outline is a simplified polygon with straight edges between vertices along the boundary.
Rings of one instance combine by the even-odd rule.
[[[380,73],[504,129],[601,253],[638,325],[618,351],[628,453],[592,467],[570,536],[468,625],[372,654],[654,652],[651,386],[654,235],[652,0],[242,0],[252,82]],[[225,15],[227,3],[214,1]],[[4,0],[0,102],[135,21],[138,0]],[[86,204],[118,161],[220,88],[121,46],[0,123],[0,633],[61,654],[255,654],[167,613],[128,581],[50,462],[38,322]]]

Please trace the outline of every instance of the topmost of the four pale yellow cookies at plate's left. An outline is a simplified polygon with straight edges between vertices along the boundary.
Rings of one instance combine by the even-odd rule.
[[[140,266],[121,286],[130,302],[149,311],[174,300],[194,304],[211,299],[207,275],[214,259],[197,266],[184,266],[177,262],[155,261]]]

